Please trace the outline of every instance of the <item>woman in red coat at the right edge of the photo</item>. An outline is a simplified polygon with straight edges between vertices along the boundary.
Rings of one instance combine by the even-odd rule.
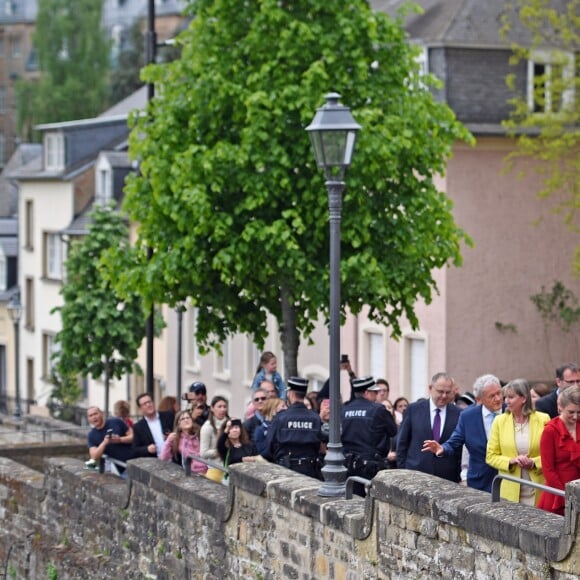
[[[580,386],[558,395],[558,417],[545,427],[540,441],[546,485],[564,490],[566,483],[580,479]],[[564,515],[565,498],[542,492],[538,507]]]

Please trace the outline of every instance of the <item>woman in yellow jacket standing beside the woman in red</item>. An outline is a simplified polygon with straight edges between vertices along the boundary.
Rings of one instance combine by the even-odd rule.
[[[540,438],[550,416],[534,411],[530,386],[524,379],[515,379],[504,387],[506,411],[493,420],[487,442],[485,461],[499,473],[544,483]],[[503,480],[502,499],[537,505],[541,491],[533,487]]]

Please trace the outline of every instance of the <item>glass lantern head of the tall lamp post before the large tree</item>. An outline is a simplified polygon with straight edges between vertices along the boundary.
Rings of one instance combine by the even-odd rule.
[[[344,178],[352,163],[357,132],[361,126],[354,120],[350,109],[338,101],[338,93],[328,93],[326,104],[320,107],[306,130],[310,133],[314,157],[327,179]]]

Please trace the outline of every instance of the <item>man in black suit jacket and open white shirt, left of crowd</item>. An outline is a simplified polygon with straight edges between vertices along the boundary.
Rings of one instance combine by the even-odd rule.
[[[174,415],[171,411],[158,412],[148,393],[137,397],[137,406],[143,418],[133,425],[133,457],[158,457],[173,431]]]

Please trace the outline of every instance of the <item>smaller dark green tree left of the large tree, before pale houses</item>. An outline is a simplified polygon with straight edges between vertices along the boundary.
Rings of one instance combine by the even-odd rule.
[[[92,220],[89,233],[71,245],[66,261],[67,279],[61,290],[64,303],[54,309],[62,319],[62,330],[55,337],[54,368],[57,378],[104,376],[108,410],[109,379],[120,379],[135,370],[146,314],[138,294],[125,293],[121,298],[100,271],[107,250],[128,247],[126,221],[114,204],[96,207]],[[56,382],[62,390],[65,380]]]

